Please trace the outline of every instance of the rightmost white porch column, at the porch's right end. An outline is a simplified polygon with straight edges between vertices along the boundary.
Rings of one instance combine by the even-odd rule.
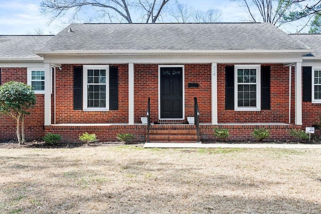
[[[295,125],[302,125],[302,63],[295,64]]]

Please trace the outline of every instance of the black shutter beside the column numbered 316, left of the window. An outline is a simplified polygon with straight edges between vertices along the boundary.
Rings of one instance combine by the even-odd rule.
[[[234,110],[234,66],[225,67],[225,109]]]

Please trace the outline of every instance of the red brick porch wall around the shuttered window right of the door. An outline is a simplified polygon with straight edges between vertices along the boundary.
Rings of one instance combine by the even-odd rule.
[[[233,64],[232,64],[233,65]],[[225,64],[218,64],[218,122],[219,123],[288,123],[289,68],[271,66],[271,109],[261,111],[225,110]]]

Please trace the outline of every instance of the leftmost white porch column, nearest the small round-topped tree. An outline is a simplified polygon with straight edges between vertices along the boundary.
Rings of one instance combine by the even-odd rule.
[[[51,65],[45,63],[45,126],[51,125]]]

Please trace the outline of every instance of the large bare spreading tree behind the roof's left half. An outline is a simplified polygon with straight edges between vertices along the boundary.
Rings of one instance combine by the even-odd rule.
[[[134,13],[140,13],[143,23],[155,23],[161,16],[161,12],[170,0],[43,0],[40,3],[41,13],[51,15],[51,22],[64,16],[67,12],[73,12],[73,19],[78,13],[86,11],[90,16],[90,10],[94,11],[95,19],[109,19],[110,22],[133,23]],[[88,17],[89,17],[88,16]],[[91,18],[88,18],[89,20]]]

